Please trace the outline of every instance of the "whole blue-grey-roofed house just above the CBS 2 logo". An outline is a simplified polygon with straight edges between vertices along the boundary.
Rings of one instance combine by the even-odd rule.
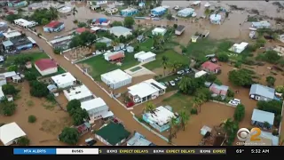
[[[272,129],[272,125],[274,124],[274,113],[266,112],[264,110],[254,109],[251,116],[251,124],[264,128],[264,123],[268,123],[269,126],[266,129]]]

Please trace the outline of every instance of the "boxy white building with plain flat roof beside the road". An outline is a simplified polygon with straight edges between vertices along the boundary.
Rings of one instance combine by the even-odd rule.
[[[132,76],[123,72],[121,69],[115,69],[100,76],[101,80],[111,89],[117,89],[127,84],[131,84]]]

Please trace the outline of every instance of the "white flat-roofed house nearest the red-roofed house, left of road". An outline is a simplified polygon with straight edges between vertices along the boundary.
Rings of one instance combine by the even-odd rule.
[[[67,88],[76,84],[76,78],[69,72],[51,76],[51,79],[58,88]]]

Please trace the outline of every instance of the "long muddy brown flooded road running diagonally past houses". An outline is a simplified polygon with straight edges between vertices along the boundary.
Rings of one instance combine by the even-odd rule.
[[[100,98],[105,100],[107,106],[113,111],[114,115],[123,121],[123,124],[125,124],[126,128],[130,132],[134,131],[140,132],[141,134],[146,136],[146,139],[151,140],[158,146],[169,145],[166,141],[157,137],[154,133],[147,131],[142,125],[138,124],[138,122],[136,122],[132,118],[130,111],[126,110],[115,100],[111,99],[106,94],[106,92],[103,92],[97,84],[95,84],[88,76],[85,76],[78,68],[75,67],[75,65],[71,64],[71,62],[64,59],[63,56],[54,54],[51,46],[46,44],[46,42],[43,39],[32,34],[28,30],[23,29],[23,32],[25,32],[27,36],[31,36],[36,41],[36,44],[38,44],[39,47],[42,48],[44,52],[49,54],[52,59],[56,60],[60,66],[66,68],[67,71],[70,72],[73,76],[75,76],[77,79],[82,81],[83,84],[85,84],[91,90],[91,92],[93,92],[96,96],[99,96]]]

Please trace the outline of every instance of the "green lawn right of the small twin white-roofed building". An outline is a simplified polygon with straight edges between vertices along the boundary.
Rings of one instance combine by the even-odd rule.
[[[178,54],[177,52],[169,50],[169,51],[157,54],[156,60],[146,63],[143,66],[150,70],[153,70],[154,68],[161,68],[162,67],[162,56],[168,57],[170,62],[178,61],[183,64],[188,64],[189,62],[188,61],[189,59],[185,57],[184,55],[181,55],[181,54]]]

